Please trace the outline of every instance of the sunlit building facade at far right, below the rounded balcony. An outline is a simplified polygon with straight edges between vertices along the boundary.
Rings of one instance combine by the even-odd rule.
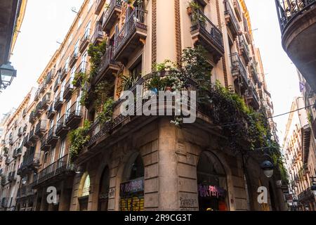
[[[315,196],[312,194],[312,176],[315,176],[315,143],[308,123],[308,113],[303,97],[296,98],[291,106],[287,131],[284,136],[284,158],[289,172],[289,184],[294,193],[298,210],[315,211]],[[294,204],[296,206],[296,204]]]

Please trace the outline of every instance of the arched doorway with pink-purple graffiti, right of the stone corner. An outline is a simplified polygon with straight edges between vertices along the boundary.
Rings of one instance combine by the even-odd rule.
[[[203,152],[197,164],[200,211],[228,211],[227,177],[216,155]]]

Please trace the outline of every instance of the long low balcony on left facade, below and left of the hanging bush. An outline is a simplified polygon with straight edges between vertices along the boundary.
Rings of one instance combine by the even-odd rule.
[[[65,155],[45,169],[42,169],[36,176],[34,176],[33,188],[46,184],[49,180],[60,181],[67,179],[68,176],[74,175],[73,166],[70,164],[69,155]]]

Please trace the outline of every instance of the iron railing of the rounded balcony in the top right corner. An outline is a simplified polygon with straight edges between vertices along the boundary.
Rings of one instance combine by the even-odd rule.
[[[284,32],[291,20],[301,15],[304,11],[308,11],[312,5],[316,4],[316,0],[275,0],[275,4],[277,6],[279,26],[281,31]]]

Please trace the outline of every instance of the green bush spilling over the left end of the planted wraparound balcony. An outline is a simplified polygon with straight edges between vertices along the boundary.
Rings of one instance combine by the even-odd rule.
[[[84,127],[79,127],[78,129],[74,129],[70,131],[69,139],[70,139],[70,162],[73,162],[75,158],[79,155],[82,148],[88,143],[90,140],[90,136],[88,135],[88,130],[91,127],[91,122],[88,120],[84,121]]]

